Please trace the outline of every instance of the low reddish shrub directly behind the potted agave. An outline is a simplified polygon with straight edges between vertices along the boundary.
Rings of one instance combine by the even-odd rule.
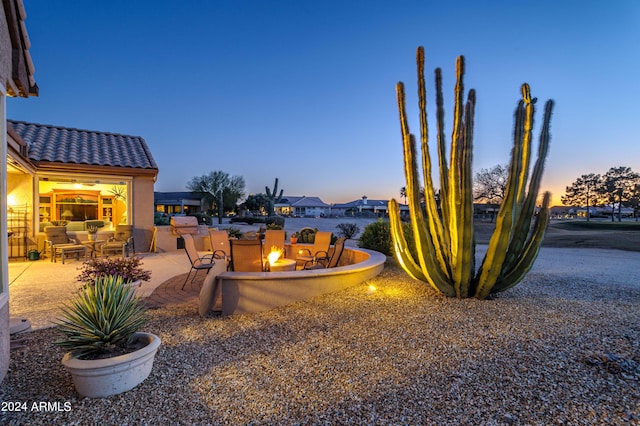
[[[76,280],[84,286],[93,285],[96,279],[114,275],[122,277],[131,287],[140,287],[142,281],[151,279],[151,272],[142,268],[140,257],[92,258],[82,264]]]

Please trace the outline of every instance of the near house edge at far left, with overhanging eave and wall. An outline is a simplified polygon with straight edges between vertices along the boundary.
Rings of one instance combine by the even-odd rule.
[[[27,14],[22,0],[3,0],[0,6],[0,380],[9,368],[9,276],[7,274],[7,96],[28,98],[38,96],[34,66],[29,53],[31,47],[25,26]],[[12,149],[24,149],[12,145]]]

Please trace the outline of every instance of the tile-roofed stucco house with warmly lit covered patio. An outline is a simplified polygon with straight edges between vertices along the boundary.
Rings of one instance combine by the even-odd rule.
[[[7,136],[9,256],[42,249],[55,221],[133,225],[136,247],[150,246],[158,166],[143,138],[14,120]]]

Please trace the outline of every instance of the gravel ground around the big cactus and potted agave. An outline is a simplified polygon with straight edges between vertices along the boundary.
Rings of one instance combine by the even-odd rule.
[[[75,393],[56,329],[26,333],[0,400],[28,408],[1,411],[0,423],[640,424],[640,253],[540,257],[486,301],[440,297],[389,264],[260,314],[154,310],[145,330],[162,346],[151,375],[104,399]]]

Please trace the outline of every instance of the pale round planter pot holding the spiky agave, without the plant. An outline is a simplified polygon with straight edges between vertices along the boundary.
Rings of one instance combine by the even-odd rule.
[[[62,365],[71,373],[80,395],[90,398],[117,395],[149,377],[160,338],[151,333],[134,333],[133,336],[147,345],[135,352],[106,359],[84,360],[65,354]]]

